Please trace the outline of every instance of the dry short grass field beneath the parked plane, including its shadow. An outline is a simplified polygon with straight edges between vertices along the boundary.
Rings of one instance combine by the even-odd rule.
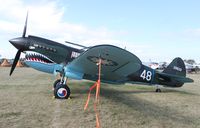
[[[53,99],[55,77],[31,68],[0,68],[1,128],[94,128],[93,99],[84,111],[90,81],[69,81],[71,99]],[[200,74],[181,88],[102,84],[102,128],[200,128]],[[94,96],[93,96],[94,97]]]

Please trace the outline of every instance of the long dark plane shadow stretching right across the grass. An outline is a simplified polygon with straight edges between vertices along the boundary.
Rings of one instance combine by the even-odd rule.
[[[151,93],[152,91],[147,91],[147,93]],[[160,103],[152,103],[142,98],[139,98],[134,95],[127,95],[127,93],[135,93],[135,92],[127,92],[127,91],[119,91],[113,89],[104,89],[102,88],[102,96],[106,99],[114,101],[116,103],[126,105],[130,108],[130,110],[139,111],[142,113],[144,117],[152,117],[156,120],[173,120],[179,124],[185,125],[193,125],[193,122],[198,120],[193,116],[185,116],[181,112],[177,112],[177,110],[173,108],[169,108],[167,106],[159,106]],[[138,92],[136,92],[138,93]],[[143,92],[142,92],[143,93]],[[146,93],[146,91],[145,91]],[[130,111],[131,113],[131,111]],[[133,115],[135,116],[135,115]]]

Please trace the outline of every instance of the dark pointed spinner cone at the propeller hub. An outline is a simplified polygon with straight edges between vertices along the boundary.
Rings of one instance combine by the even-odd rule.
[[[9,40],[9,42],[15,46],[17,49],[24,49],[25,48],[25,40],[24,38],[14,38]]]

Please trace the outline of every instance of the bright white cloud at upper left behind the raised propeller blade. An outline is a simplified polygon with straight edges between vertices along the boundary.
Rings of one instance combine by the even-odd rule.
[[[89,37],[106,38],[112,34],[104,27],[90,29],[81,24],[63,21],[65,8],[58,6],[56,1],[27,5],[20,0],[13,0],[0,4],[0,14],[3,17],[0,20],[0,30],[21,35],[27,10],[29,10],[27,34],[53,37],[53,39],[63,38],[63,40],[65,36],[84,40]]]

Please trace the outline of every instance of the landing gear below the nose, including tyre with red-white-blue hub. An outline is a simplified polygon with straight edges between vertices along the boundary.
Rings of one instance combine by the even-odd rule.
[[[70,88],[66,84],[66,79],[58,79],[53,84],[54,96],[57,99],[68,99],[70,96]]]

